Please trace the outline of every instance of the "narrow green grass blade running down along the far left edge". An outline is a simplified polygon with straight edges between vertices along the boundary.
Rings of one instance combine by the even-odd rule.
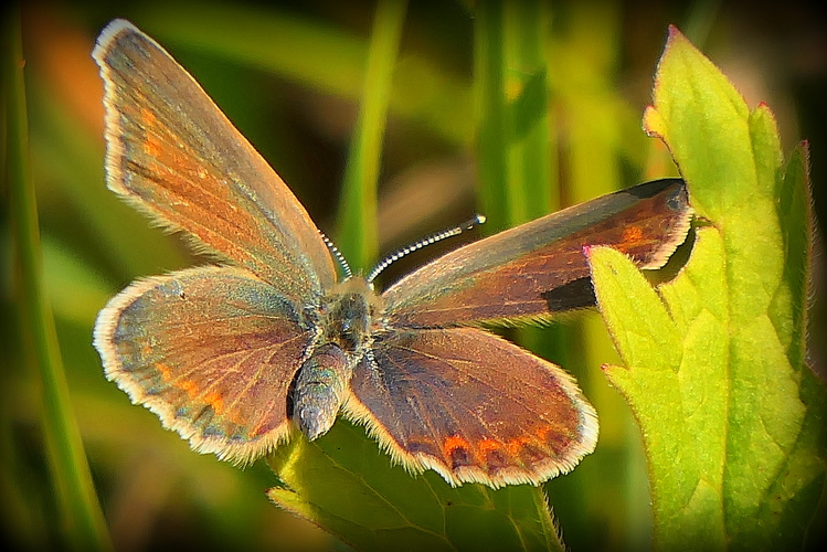
[[[23,54],[19,14],[8,17],[7,124],[12,225],[20,263],[24,332],[33,348],[42,382],[42,428],[57,493],[64,545],[76,550],[110,550],[106,522],[97,501],[81,433],[70,404],[68,385],[57,346],[41,266],[38,208],[34,198],[26,123]]]

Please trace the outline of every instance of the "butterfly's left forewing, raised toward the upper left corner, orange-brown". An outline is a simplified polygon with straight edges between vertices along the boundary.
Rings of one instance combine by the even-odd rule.
[[[305,209],[158,43],[114,21],[93,56],[106,86],[112,190],[294,299],[333,284]]]

